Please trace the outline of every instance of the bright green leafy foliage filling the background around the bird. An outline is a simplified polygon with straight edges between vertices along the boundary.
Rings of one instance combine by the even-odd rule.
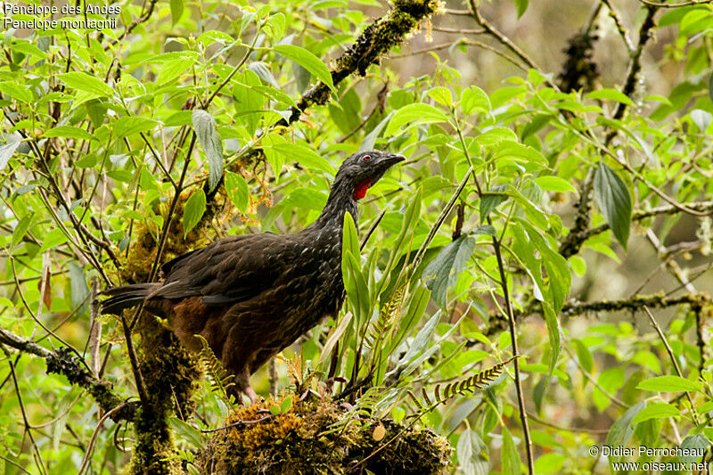
[[[288,360],[324,380],[340,328],[336,373],[375,368],[364,405],[423,415],[459,473],[606,472],[589,446],[709,446],[709,2],[448,2],[284,127],[358,33],[412,3],[119,2],[115,31],[3,32],[0,327],[19,336],[2,340],[5,472],[119,472],[135,437],[97,428],[95,398],[28,341],[75,348],[135,398],[97,291],[216,236],[298,231],[340,161],[372,147],[408,161],[361,203],[361,235],[379,225],[345,266],[354,321]],[[434,395],[515,353],[488,389]],[[254,376],[258,393],[288,368]],[[422,414],[426,397],[445,404]],[[170,420],[184,465],[227,411],[205,379],[193,400]]]

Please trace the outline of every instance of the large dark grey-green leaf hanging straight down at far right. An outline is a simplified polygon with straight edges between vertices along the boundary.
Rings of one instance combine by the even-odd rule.
[[[594,195],[611,231],[627,250],[632,207],[627,184],[614,170],[600,162],[594,172]]]

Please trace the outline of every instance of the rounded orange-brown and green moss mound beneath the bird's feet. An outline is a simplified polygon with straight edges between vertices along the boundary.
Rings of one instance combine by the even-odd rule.
[[[317,397],[270,414],[283,400],[242,407],[229,416],[225,425],[235,425],[210,439],[198,460],[201,473],[346,474],[355,468],[424,475],[445,473],[450,463],[447,440],[431,430],[388,419],[349,420],[340,405]],[[385,433],[376,440],[379,425]]]

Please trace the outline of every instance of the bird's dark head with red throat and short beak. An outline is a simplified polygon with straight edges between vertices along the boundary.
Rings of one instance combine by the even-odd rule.
[[[334,184],[348,187],[353,190],[352,198],[361,200],[366,190],[378,182],[389,168],[404,160],[402,155],[378,150],[356,152],[342,162]]]

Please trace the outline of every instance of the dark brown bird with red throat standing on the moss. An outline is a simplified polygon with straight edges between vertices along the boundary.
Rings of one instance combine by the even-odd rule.
[[[295,234],[229,236],[161,266],[163,282],[113,287],[102,314],[142,301],[168,319],[185,347],[210,348],[234,374],[234,392],[252,402],[250,374],[291,345],[344,301],[341,240],[344,213],[357,221],[356,201],[401,155],[357,152],[341,164],[322,214]]]

